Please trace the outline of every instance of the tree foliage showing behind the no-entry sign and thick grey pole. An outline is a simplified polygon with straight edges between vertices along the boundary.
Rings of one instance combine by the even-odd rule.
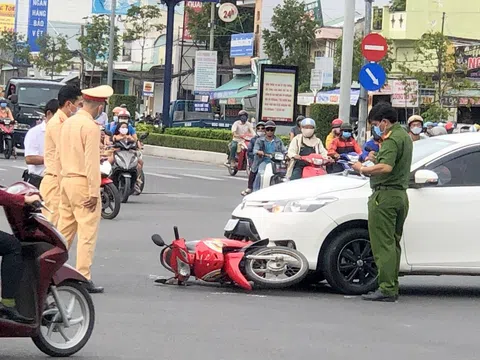
[[[363,66],[364,57],[362,55],[362,34],[357,34],[355,36],[353,42],[353,65],[352,65],[352,80],[358,81],[358,74],[360,73],[360,69]],[[392,45],[393,43],[390,40],[387,40],[388,43],[388,53],[385,58],[380,61],[380,65],[385,69],[385,72],[388,73],[392,70],[393,66],[393,53],[392,53]],[[335,55],[334,55],[334,72],[333,78],[334,82],[338,83],[340,81],[340,70],[342,68],[342,38],[340,37],[336,41],[335,45]]]

